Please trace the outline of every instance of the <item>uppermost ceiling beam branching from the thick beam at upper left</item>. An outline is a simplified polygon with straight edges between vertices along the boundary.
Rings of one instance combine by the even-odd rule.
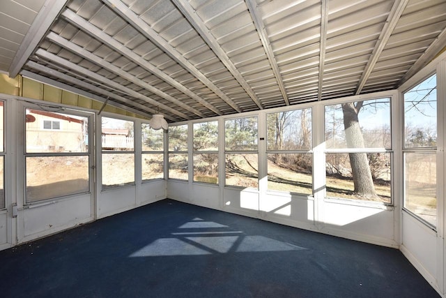
[[[183,92],[183,94],[186,94],[190,98],[197,100],[197,102],[199,102],[204,107],[207,107],[209,110],[215,112],[215,114],[222,115],[222,112],[217,107],[214,107],[197,94],[194,94],[194,92],[190,91],[190,89],[187,89],[187,87],[185,87],[183,84],[180,84],[178,81],[174,80],[172,77],[162,72],[162,70],[148,62],[146,59],[140,57],[137,54],[134,54],[134,52],[132,52],[132,50],[130,50],[128,47],[125,47],[125,45],[119,43],[117,40],[110,37],[107,33],[98,29],[98,27],[95,27],[93,24],[87,22],[86,20],[84,20],[83,17],[72,12],[72,10],[65,10],[62,13],[62,16],[65,17],[65,19],[74,26],[82,29],[86,33],[89,33],[89,35],[93,38],[98,39],[102,43],[105,43],[106,45],[111,47],[112,50],[116,50],[124,57],[127,57],[130,61],[133,61],[135,64],[141,66],[141,68],[144,68],[148,72],[153,73],[153,75],[156,75],[161,80],[164,80],[164,82],[167,82],[167,84],[170,84],[172,87]]]

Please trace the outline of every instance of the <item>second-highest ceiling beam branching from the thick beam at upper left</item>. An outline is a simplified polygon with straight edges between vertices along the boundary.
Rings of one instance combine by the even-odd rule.
[[[51,40],[53,43],[56,43],[57,45],[60,45],[61,47],[65,48],[66,50],[69,50],[70,52],[73,52],[80,57],[83,57],[84,59],[87,59],[94,64],[97,64],[98,66],[101,66],[102,68],[105,68],[112,73],[119,75],[125,80],[128,80],[129,82],[132,82],[133,84],[137,84],[139,87],[144,88],[148,91],[151,91],[153,94],[156,94],[157,96],[160,96],[164,99],[169,100],[171,103],[175,103],[179,107],[183,107],[183,109],[188,110],[189,112],[192,112],[196,114],[199,117],[205,118],[206,115],[201,113],[199,110],[194,109],[193,107],[190,107],[189,105],[186,105],[185,103],[181,102],[180,100],[174,98],[174,96],[170,96],[169,94],[166,94],[164,91],[161,91],[160,89],[157,89],[153,87],[151,84],[148,84],[147,82],[144,82],[143,80],[135,77],[134,75],[130,75],[130,73],[122,70],[121,68],[118,68],[117,66],[114,66],[113,64],[109,63],[108,61],[105,61],[105,59],[102,59],[95,54],[84,50],[84,48],[79,47],[79,45],[76,45],[75,43],[71,43],[70,41],[66,40],[65,38],[57,35],[54,32],[50,32],[47,35],[47,39]]]

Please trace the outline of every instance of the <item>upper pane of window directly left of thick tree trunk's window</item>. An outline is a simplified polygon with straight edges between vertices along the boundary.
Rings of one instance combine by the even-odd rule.
[[[312,149],[312,110],[268,114],[268,151]]]

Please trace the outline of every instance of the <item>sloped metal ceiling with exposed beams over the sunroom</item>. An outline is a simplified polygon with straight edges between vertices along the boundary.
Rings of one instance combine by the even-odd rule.
[[[168,121],[396,89],[445,0],[0,0],[0,70]]]

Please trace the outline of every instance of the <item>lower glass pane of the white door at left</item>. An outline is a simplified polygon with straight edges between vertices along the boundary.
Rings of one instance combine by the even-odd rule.
[[[26,202],[89,192],[89,156],[26,157]]]

